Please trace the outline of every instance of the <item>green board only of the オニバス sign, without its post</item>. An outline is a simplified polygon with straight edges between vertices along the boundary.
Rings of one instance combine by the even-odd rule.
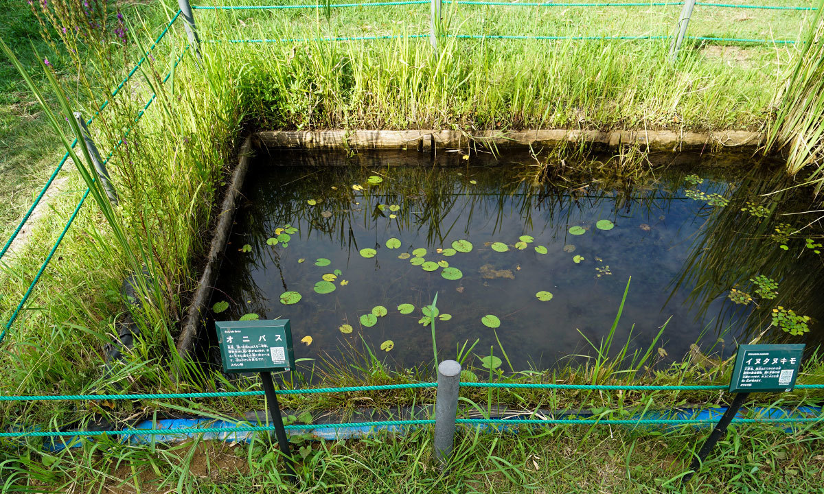
[[[223,370],[261,372],[291,370],[295,365],[289,319],[215,321]]]

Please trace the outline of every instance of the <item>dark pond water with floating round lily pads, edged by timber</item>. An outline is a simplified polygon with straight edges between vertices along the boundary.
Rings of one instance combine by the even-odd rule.
[[[391,153],[370,166],[343,153],[315,158],[279,153],[252,166],[212,300],[228,303],[220,320],[291,319],[298,358],[343,361],[365,342],[396,366],[431,362],[433,332],[421,319],[437,294],[440,358],[478,340],[475,358],[494,347],[514,370],[550,368],[593,354],[588,341],[610,333],[630,277],[614,347],[630,340],[643,351],[662,328],[655,347],[674,360],[696,342],[729,356],[762,332],[762,342],[820,340],[822,257],[807,247],[809,230],[794,233],[808,217],[781,216],[809,201],[762,197],[786,185],[764,165],[680,156],[635,181],[573,172],[534,180],[536,161],[523,155],[455,155],[438,166],[395,166],[410,157]],[[454,252],[469,247],[456,240],[471,251]],[[458,273],[444,266],[460,277],[447,279]],[[758,275],[778,283],[762,291],[777,291],[774,299],[756,295]],[[752,300],[733,302],[733,288]],[[288,303],[293,292],[300,300]],[[414,310],[402,314],[402,304]],[[808,315],[810,331],[770,326],[779,305]],[[377,306],[386,315],[378,308],[372,319]]]

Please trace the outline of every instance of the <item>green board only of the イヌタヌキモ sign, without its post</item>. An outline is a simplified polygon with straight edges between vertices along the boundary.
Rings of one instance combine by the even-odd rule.
[[[729,392],[792,391],[803,351],[803,343],[739,345]]]

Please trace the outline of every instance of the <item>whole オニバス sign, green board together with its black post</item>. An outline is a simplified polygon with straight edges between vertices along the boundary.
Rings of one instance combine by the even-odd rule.
[[[295,353],[289,319],[253,321],[215,321],[220,338],[223,370],[227,372],[260,372],[269,415],[274,422],[280,452],[288,478],[296,479],[294,460],[289,450],[278,394],[274,390],[272,371],[291,370]]]

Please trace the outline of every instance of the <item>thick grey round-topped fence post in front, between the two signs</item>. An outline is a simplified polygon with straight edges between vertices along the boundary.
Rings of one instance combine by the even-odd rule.
[[[441,464],[446,464],[452,457],[460,385],[461,364],[442,361],[438,365],[438,394],[435,398],[435,457]]]

